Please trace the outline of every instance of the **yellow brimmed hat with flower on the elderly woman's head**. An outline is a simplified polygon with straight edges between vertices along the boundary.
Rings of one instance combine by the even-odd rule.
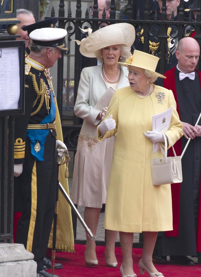
[[[126,59],[125,63],[118,62],[118,64],[122,64],[124,66],[135,66],[143,69],[147,69],[151,72],[154,72],[158,75],[158,77],[166,78],[160,73],[157,73],[156,66],[159,58],[150,54],[147,54],[142,51],[134,50],[133,55],[131,54],[128,59]]]

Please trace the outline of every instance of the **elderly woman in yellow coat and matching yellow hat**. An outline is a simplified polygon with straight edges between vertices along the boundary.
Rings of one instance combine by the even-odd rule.
[[[165,134],[173,144],[183,134],[172,91],[152,84],[157,77],[165,78],[155,72],[157,62],[157,57],[134,50],[133,56],[121,63],[128,67],[130,86],[114,92],[105,120],[97,130],[99,141],[116,134],[104,227],[120,231],[122,277],[136,276],[132,261],[134,232],[143,232],[144,238],[140,273],[164,277],[154,267],[152,253],[157,232],[173,229],[170,184],[153,186],[150,168],[150,159],[155,156],[152,142],[164,142],[164,137],[143,134],[152,130],[152,115],[171,106],[170,128]],[[164,93],[163,99],[158,98],[160,92]],[[163,157],[160,150],[156,157]]]

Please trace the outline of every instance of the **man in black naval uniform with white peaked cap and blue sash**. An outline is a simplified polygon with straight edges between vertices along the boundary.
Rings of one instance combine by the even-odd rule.
[[[56,203],[57,158],[66,149],[64,143],[56,140],[53,87],[44,70],[53,67],[61,58],[61,51],[68,51],[66,34],[60,28],[30,33],[31,53],[25,59],[25,114],[15,120],[14,176],[23,210],[16,242],[34,254],[37,277],[53,276],[44,270],[43,258]]]

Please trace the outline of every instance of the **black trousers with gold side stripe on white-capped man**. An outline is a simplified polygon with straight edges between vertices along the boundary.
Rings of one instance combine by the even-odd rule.
[[[34,254],[37,272],[43,270],[56,201],[56,140],[49,135],[44,147],[44,161],[33,158],[30,142],[26,141],[25,163],[18,177],[25,208],[18,221],[16,242],[24,244]]]

